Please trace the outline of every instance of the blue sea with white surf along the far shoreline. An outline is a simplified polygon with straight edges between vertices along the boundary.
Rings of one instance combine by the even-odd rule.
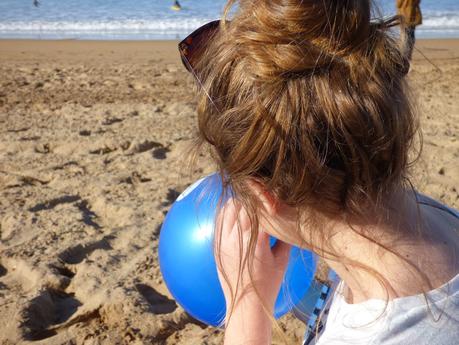
[[[0,38],[180,39],[221,16],[224,0],[0,0]],[[395,0],[379,0],[383,14]],[[418,37],[459,38],[459,0],[423,0]]]

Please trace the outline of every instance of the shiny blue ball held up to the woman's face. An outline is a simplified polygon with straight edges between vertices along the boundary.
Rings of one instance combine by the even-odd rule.
[[[218,174],[195,182],[172,205],[159,237],[159,264],[170,293],[194,318],[212,326],[219,326],[226,313],[213,253],[214,219],[222,192]],[[304,298],[315,268],[311,252],[292,247],[274,317]]]

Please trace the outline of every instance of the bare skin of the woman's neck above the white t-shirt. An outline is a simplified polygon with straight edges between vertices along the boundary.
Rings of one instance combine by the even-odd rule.
[[[344,281],[348,303],[423,293],[457,274],[452,255],[457,238],[448,237],[448,226],[438,213],[420,210],[412,198],[392,209],[386,222],[338,221],[333,227],[327,247],[338,257],[325,261]]]

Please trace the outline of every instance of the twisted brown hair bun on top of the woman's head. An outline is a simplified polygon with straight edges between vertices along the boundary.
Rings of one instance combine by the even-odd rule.
[[[252,73],[263,79],[307,73],[365,55],[375,30],[359,0],[242,2],[233,35]]]

